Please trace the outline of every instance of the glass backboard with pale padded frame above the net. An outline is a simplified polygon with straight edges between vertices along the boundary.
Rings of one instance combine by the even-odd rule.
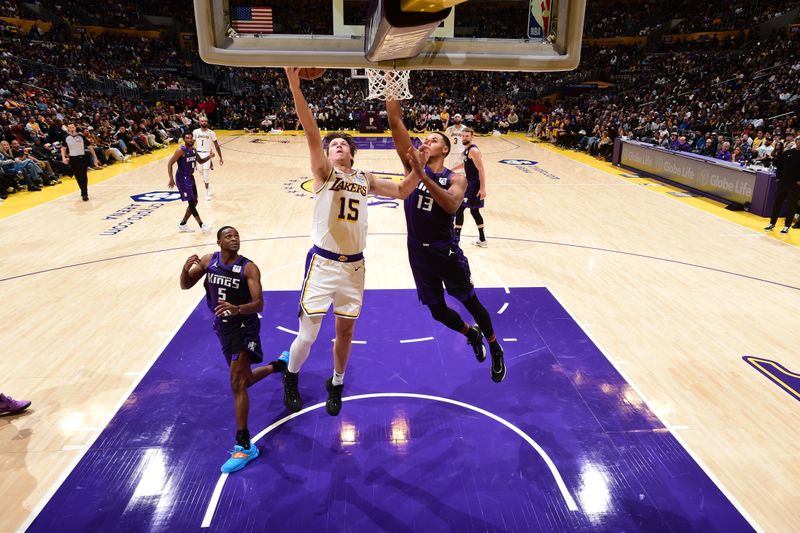
[[[557,71],[580,61],[586,0],[468,0],[419,56],[364,57],[368,0],[194,0],[198,50],[245,67]]]

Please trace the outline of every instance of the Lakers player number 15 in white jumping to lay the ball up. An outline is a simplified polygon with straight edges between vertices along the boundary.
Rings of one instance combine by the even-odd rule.
[[[303,125],[314,174],[313,246],[306,256],[300,296],[300,327],[291,346],[289,369],[283,380],[284,403],[290,411],[302,408],[298,373],[319,334],[322,318],[333,304],[336,338],[333,343],[333,376],[325,382],[328,391],[325,408],[328,414],[336,416],[342,407],[344,373],[350,358],[355,321],[361,313],[364,297],[367,195],[375,193],[405,198],[414,190],[419,178],[409,172],[398,183],[354,169],[356,145],[347,134],[329,133],[323,142],[300,88],[299,71],[298,68],[287,68],[286,76]],[[405,157],[416,157],[416,154],[409,143]]]

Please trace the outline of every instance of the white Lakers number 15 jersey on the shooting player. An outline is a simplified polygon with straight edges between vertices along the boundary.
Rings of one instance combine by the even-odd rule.
[[[343,255],[355,255],[367,245],[369,182],[361,170],[331,170],[325,184],[314,191],[311,239],[316,246]]]

